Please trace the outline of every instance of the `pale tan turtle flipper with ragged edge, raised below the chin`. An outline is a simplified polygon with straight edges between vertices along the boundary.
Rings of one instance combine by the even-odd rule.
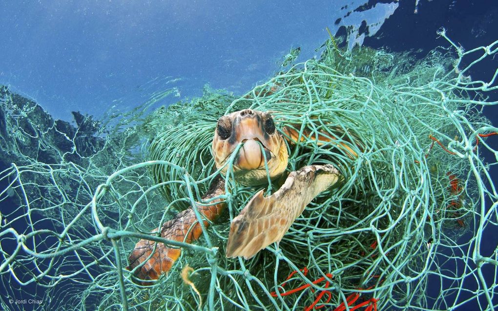
[[[232,221],[227,257],[249,259],[279,242],[304,207],[342,179],[333,165],[310,165],[290,173],[273,195],[265,198],[259,191]]]

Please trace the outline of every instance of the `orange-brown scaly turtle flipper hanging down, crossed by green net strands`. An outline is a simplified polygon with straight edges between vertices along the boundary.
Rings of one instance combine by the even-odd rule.
[[[217,177],[202,199],[208,200],[224,193],[225,181],[221,177]],[[225,203],[222,200],[215,200],[212,205],[208,206],[197,205],[199,212],[209,220],[218,218],[224,207]],[[209,222],[204,221],[204,227],[208,225]],[[158,228],[152,232],[157,232],[157,230]],[[165,239],[191,243],[199,238],[202,229],[194,209],[189,207],[177,213],[173,219],[166,221],[161,226],[160,232],[161,237]],[[140,280],[134,281],[142,285],[150,285],[151,282],[144,281],[159,279],[161,274],[171,269],[180,253],[181,248],[171,248],[163,243],[141,239],[129,255],[129,266],[126,269],[131,271],[136,268],[134,276]],[[144,263],[144,261],[146,262]]]

